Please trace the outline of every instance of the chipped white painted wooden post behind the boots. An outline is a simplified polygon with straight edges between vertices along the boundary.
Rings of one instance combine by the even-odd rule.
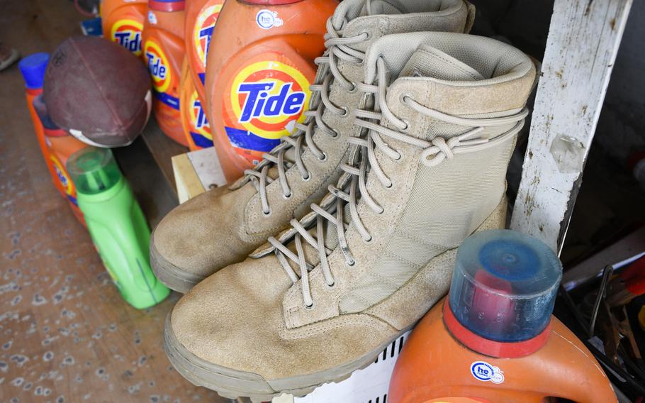
[[[632,0],[556,0],[511,228],[560,253]]]

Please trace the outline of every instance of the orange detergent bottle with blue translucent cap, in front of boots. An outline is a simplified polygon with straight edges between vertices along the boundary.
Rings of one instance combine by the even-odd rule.
[[[476,233],[449,296],[403,346],[388,403],[617,402],[600,365],[551,315],[562,265],[522,233]]]

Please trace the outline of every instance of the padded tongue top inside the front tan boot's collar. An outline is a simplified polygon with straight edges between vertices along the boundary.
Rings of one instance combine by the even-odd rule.
[[[484,77],[473,67],[430,45],[420,45],[399,77],[432,77],[446,81],[478,81]]]

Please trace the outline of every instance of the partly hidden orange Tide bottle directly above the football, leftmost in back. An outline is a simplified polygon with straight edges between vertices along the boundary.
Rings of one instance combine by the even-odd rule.
[[[147,0],[101,1],[103,37],[140,56],[147,4]]]

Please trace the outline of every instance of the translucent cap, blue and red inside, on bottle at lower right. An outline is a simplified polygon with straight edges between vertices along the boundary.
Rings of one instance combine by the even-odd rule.
[[[561,277],[560,260],[542,241],[517,231],[481,231],[457,251],[450,309],[482,338],[527,341],[549,325]]]

